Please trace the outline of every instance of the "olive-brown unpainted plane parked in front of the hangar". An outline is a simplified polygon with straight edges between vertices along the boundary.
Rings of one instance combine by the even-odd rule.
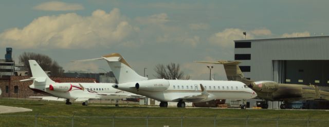
[[[325,99],[329,100],[329,92],[323,91],[325,88],[312,84],[287,84],[275,81],[253,81],[244,77],[239,68],[241,61],[195,61],[205,64],[224,65],[228,80],[241,81],[254,90],[258,98],[265,100],[261,105],[262,109],[268,108],[268,101],[283,101],[280,109],[286,109],[286,103],[297,100]]]

